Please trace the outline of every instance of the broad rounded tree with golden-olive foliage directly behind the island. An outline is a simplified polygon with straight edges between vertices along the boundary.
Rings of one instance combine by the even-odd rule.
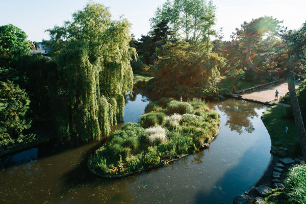
[[[185,41],[162,45],[156,52],[158,63],[151,68],[155,79],[149,81],[149,86],[155,92],[180,95],[190,92],[190,88],[213,85],[219,75],[218,69],[225,63],[206,48]]]

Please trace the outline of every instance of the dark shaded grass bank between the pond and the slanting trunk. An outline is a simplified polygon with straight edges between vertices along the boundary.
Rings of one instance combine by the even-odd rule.
[[[272,145],[286,147],[289,149],[288,156],[296,157],[301,152],[297,129],[294,120],[285,118],[285,115],[286,107],[273,106],[264,112],[262,120],[269,132]],[[281,142],[281,145],[275,145],[276,141]]]

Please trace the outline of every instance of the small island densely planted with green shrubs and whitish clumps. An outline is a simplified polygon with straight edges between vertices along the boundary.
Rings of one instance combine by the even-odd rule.
[[[147,105],[138,123],[126,123],[88,160],[96,175],[122,177],[193,154],[217,136],[220,114],[204,100],[162,98]]]

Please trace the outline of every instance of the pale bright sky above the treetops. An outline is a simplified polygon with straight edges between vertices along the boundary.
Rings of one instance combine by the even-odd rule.
[[[137,38],[150,29],[149,18],[166,0],[96,0],[110,8],[114,19],[123,15],[133,25]],[[70,20],[71,14],[82,9],[88,0],[0,0],[0,25],[13,24],[28,35],[28,40],[49,39],[44,31]],[[215,29],[223,28],[224,39],[230,40],[235,28],[244,21],[261,16],[284,20],[288,29],[299,29],[306,20],[306,0],[213,0],[217,7]]]

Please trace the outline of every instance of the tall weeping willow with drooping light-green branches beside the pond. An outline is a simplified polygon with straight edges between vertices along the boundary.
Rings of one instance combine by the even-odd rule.
[[[122,120],[123,94],[133,88],[131,24],[112,20],[101,4],[87,4],[49,32],[60,85],[52,99],[61,139],[100,139]]]

